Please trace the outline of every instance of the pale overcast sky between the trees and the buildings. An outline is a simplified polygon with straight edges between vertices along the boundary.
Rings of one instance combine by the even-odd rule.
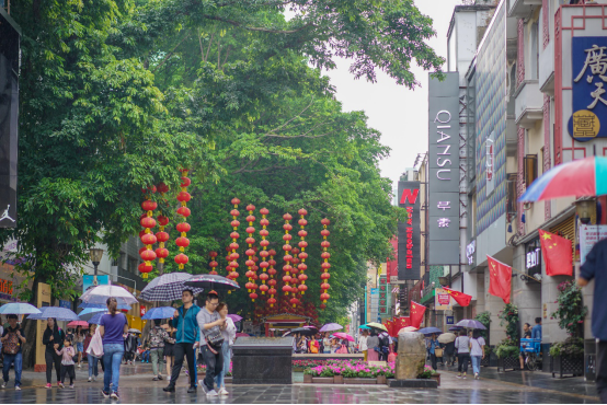
[[[446,58],[449,22],[455,5],[461,4],[461,0],[415,0],[415,4],[434,20],[438,35],[428,44]],[[377,83],[354,80],[350,65],[348,60],[340,60],[337,69],[325,74],[336,86],[336,96],[344,109],[364,111],[369,126],[381,131],[382,143],[392,149],[390,157],[380,163],[381,174],[398,182],[401,173],[413,166],[417,153],[427,151],[428,73],[413,63],[413,72],[422,88],[411,91],[397,85],[383,73],[378,76]]]

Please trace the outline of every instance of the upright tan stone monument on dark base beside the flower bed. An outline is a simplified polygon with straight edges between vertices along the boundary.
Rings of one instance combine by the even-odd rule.
[[[399,356],[394,367],[396,380],[390,382],[391,387],[437,387],[434,380],[417,380],[426,363],[426,344],[424,335],[416,332],[399,333]]]

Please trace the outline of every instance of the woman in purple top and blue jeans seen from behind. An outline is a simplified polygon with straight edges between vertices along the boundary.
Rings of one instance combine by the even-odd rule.
[[[99,323],[101,337],[103,338],[103,362],[105,373],[103,378],[102,394],[105,398],[118,401],[118,382],[121,379],[121,364],[124,356],[124,335],[128,332],[126,316],[118,312],[118,302],[115,298],[107,299],[110,314],[103,315]],[[112,392],[110,392],[112,383]]]

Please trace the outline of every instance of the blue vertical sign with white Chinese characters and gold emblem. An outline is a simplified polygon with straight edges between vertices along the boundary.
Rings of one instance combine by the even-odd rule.
[[[569,134],[580,142],[607,138],[607,36],[572,38],[573,116]]]

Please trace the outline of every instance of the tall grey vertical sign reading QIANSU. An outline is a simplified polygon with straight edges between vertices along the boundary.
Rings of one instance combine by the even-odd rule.
[[[459,265],[459,73],[430,79],[431,266]]]

